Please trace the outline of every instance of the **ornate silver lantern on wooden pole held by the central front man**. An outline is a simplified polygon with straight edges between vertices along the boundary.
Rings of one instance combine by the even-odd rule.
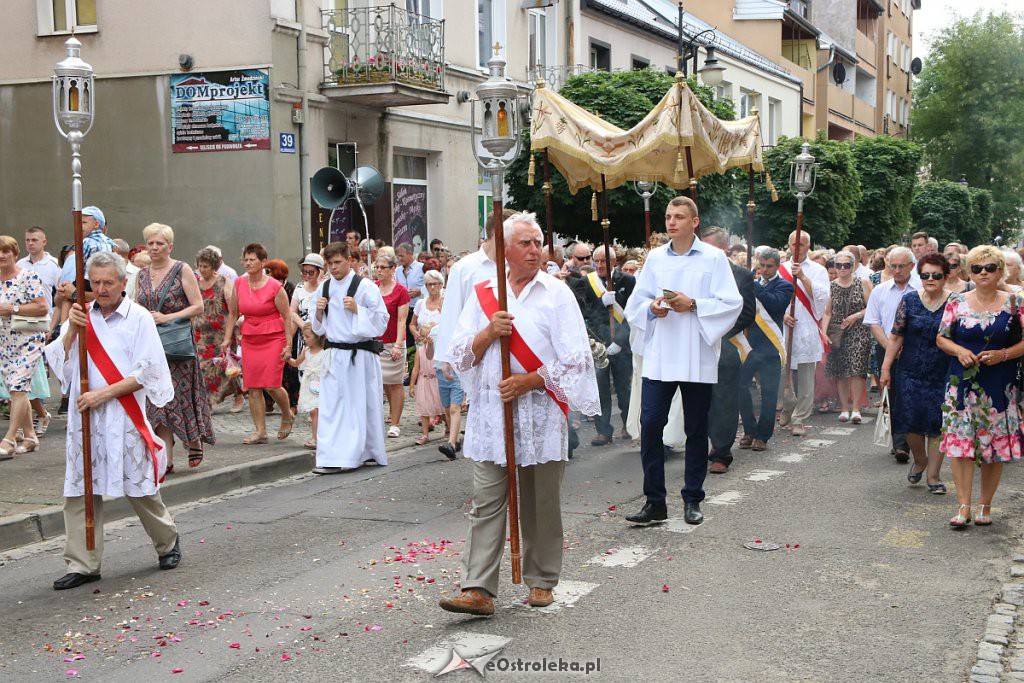
[[[487,61],[490,76],[476,86],[476,100],[471,110],[471,138],[473,156],[480,170],[490,176],[494,195],[494,240],[495,262],[498,264],[498,307],[508,311],[508,291],[505,279],[505,236],[502,227],[502,197],[505,185],[505,170],[522,146],[520,131],[522,121],[519,116],[520,103],[525,99],[519,94],[515,84],[505,76],[505,59],[499,54],[501,44],[495,44],[495,55]],[[479,112],[477,112],[479,110]],[[477,115],[480,130],[477,132]],[[501,338],[502,379],[512,374],[509,355],[509,338]],[[515,437],[512,431],[512,403],[505,403],[505,461],[508,476],[509,538],[512,560],[512,583],[522,582],[519,558],[519,498],[516,492]]]

